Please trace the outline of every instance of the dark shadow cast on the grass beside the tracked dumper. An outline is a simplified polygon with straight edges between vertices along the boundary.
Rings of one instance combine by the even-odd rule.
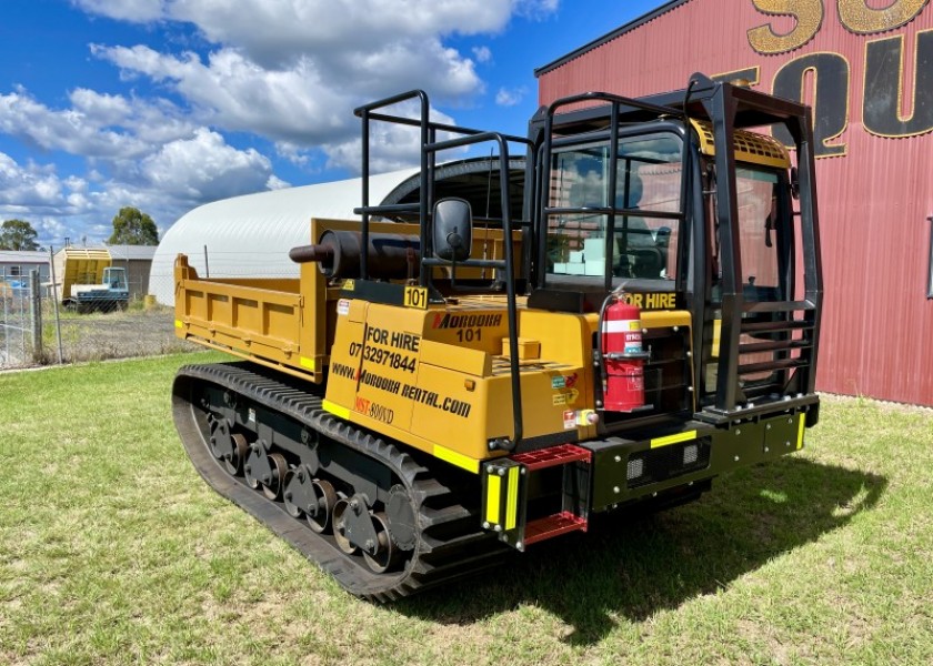
[[[503,571],[400,603],[411,616],[472,623],[533,603],[562,617],[573,644],[595,643],[612,615],[641,622],[714,593],[870,509],[887,482],[802,458],[732,473],[699,502],[642,517],[603,516],[535,545]]]

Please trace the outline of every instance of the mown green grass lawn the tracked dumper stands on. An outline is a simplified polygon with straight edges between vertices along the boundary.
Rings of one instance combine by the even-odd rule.
[[[217,357],[0,374],[0,663],[933,662],[929,411],[826,398],[699,503],[381,607],[188,463],[171,379]]]

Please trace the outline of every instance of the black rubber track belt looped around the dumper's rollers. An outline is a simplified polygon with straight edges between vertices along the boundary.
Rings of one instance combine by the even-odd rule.
[[[493,568],[511,554],[493,534],[480,529],[479,518],[428,468],[393,444],[325,412],[319,395],[285,384],[269,372],[250,363],[182,367],[172,389],[175,427],[194,467],[214,491],[320,565],[347,591],[371,601],[391,602]],[[303,519],[291,517],[281,503],[267,500],[261,492],[247,486],[242,477],[231,476],[211,454],[207,435],[195,417],[203,412],[192,404],[192,398],[199,402],[203,393],[198,387],[205,384],[230,390],[388,467],[408,490],[419,526],[418,541],[404,571],[373,573],[362,558],[343,554],[332,537],[315,534]]]

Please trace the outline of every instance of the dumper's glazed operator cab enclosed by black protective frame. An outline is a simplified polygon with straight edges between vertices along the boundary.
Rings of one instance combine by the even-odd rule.
[[[813,394],[822,283],[804,118],[699,74],[686,91],[584,93],[542,109],[529,307],[593,313],[624,295],[676,313],[654,321],[678,325],[644,324],[649,336],[691,329],[655,341],[672,345],[654,354],[666,361],[683,343],[684,372],[645,364],[659,414],[719,423]],[[796,164],[772,127],[791,137]]]

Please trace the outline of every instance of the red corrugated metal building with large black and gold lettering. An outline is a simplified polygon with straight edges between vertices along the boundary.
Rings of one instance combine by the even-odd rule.
[[[539,69],[539,99],[741,78],[814,110],[817,389],[933,406],[933,7],[675,0]]]

